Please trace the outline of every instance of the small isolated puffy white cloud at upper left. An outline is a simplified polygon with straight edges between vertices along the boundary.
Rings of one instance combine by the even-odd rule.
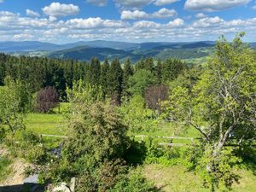
[[[79,14],[79,6],[73,4],[51,3],[43,9],[45,15],[49,16],[67,16]]]

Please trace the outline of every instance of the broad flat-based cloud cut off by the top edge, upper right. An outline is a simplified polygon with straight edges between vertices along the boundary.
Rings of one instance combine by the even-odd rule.
[[[201,11],[218,11],[247,4],[250,0],[187,0],[185,9]]]

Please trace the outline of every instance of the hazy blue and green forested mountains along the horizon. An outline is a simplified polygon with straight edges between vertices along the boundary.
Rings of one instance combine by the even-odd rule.
[[[116,41],[79,41],[72,44],[50,44],[38,41],[0,42],[0,52],[12,55],[43,55],[62,59],[89,61],[97,57],[101,61],[108,58],[119,58],[138,61],[142,57],[154,56],[165,59],[176,57],[183,60],[203,58],[212,53],[212,41],[188,43],[127,43]],[[256,47],[256,43],[251,44]]]

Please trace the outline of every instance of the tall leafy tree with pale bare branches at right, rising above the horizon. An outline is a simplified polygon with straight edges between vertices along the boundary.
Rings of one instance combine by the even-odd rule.
[[[207,177],[214,178],[210,179],[212,189],[221,181],[229,180],[224,184],[230,185],[234,180],[232,160],[236,157],[222,162],[224,145],[236,142],[242,147],[256,137],[256,63],[241,42],[243,35],[237,35],[232,44],[221,37],[191,93],[177,87],[167,103],[169,119],[186,122],[201,133],[207,156],[211,157],[204,169]],[[227,170],[219,173],[223,163]]]

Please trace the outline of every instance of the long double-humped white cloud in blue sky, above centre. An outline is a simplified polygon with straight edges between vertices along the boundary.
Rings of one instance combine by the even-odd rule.
[[[168,18],[176,16],[177,12],[174,9],[160,9],[159,11],[154,12],[153,14],[148,14],[140,10],[124,10],[121,13],[122,20],[139,20],[139,19],[150,19],[150,18]]]

